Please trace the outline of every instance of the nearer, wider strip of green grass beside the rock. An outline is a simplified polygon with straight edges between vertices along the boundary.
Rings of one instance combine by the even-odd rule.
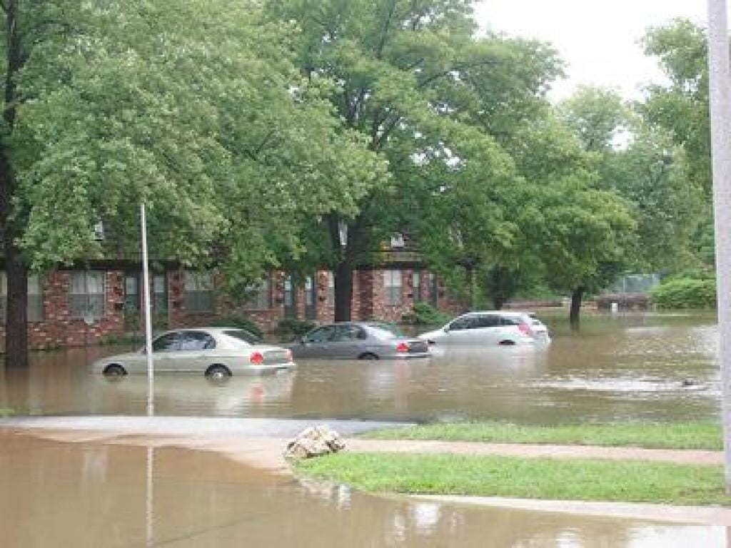
[[[295,470],[367,492],[731,506],[716,465],[339,453]]]

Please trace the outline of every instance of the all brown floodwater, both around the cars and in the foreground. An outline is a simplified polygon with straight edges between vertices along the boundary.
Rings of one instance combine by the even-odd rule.
[[[292,373],[158,376],[180,416],[468,418],[556,424],[716,419],[713,316],[596,316],[548,348],[447,349],[410,361],[302,361]],[[37,353],[0,369],[0,408],[146,413],[147,381],[87,365],[125,348]],[[684,386],[689,385],[689,386]],[[295,482],[207,452],[0,433],[0,547],[730,547],[726,528],[468,508]]]

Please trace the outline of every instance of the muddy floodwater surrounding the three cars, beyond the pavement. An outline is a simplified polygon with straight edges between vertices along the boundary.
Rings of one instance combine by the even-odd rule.
[[[302,360],[293,373],[158,376],[156,413],[397,420],[605,422],[714,419],[719,372],[713,316],[588,316],[580,335],[543,318],[548,348],[435,349],[430,359]],[[0,370],[0,408],[30,414],[144,414],[147,381],[91,376],[86,365],[127,348],[34,354],[29,371]],[[683,384],[690,383],[690,386]]]

